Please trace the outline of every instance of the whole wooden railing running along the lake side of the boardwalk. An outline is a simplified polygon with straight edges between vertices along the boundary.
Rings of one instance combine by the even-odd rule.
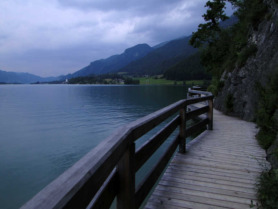
[[[190,88],[188,99],[120,127],[22,208],[109,208],[115,197],[117,208],[139,208],[177,146],[184,153],[186,137],[207,124],[208,129],[213,128],[213,95],[200,91],[203,89],[202,86]],[[208,105],[186,111],[187,106],[206,101]],[[139,137],[178,111],[179,115],[135,150],[134,142]],[[208,113],[204,120],[186,128],[186,121],[204,113]],[[135,188],[135,173],[178,126],[179,134]]]

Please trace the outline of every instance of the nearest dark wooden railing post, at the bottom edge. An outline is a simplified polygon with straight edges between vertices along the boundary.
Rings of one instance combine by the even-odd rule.
[[[119,176],[119,194],[117,194],[117,209],[135,209],[135,143],[129,146],[124,156],[117,164]]]

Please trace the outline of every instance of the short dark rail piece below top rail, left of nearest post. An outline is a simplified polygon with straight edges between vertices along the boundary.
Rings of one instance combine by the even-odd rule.
[[[106,209],[109,208],[118,194],[119,181],[116,168],[108,176],[95,197],[92,199],[86,209]]]

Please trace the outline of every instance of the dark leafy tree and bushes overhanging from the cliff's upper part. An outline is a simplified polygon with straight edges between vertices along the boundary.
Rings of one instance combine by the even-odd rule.
[[[231,27],[222,28],[219,21],[229,17],[224,13],[225,2],[230,2],[235,9],[238,22]],[[257,27],[266,11],[263,0],[213,0],[205,5],[207,13],[203,15],[205,24],[200,24],[193,32],[189,43],[201,51],[201,64],[214,78],[210,90],[215,94],[221,89],[221,75],[226,70],[231,72],[236,65],[244,65],[247,58],[256,53],[256,46],[247,46],[250,27]]]

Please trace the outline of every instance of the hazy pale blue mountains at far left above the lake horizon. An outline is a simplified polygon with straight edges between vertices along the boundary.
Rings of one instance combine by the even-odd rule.
[[[5,83],[30,84],[37,81],[44,82],[44,81],[55,81],[55,80],[58,80],[58,76],[43,78],[27,72],[6,72],[0,70],[0,82],[5,82]]]

